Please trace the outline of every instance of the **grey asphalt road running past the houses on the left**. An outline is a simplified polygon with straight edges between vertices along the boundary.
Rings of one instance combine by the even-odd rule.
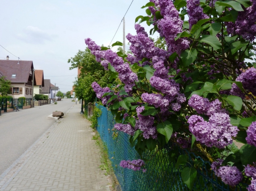
[[[0,117],[0,175],[56,122],[48,116],[53,111],[65,113],[75,104],[72,100],[63,99],[58,104],[35,106],[2,114]]]

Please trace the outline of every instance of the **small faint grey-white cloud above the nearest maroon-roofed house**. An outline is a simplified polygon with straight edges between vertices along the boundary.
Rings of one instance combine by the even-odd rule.
[[[26,43],[43,44],[45,41],[53,41],[56,35],[48,34],[38,27],[28,26],[23,30],[23,33],[18,34],[17,37]]]

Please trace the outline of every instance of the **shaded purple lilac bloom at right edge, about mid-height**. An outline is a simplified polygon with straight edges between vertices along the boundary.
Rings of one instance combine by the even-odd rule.
[[[250,91],[253,95],[256,95],[256,69],[255,68],[250,68],[247,69],[244,73],[240,74],[236,81],[242,82],[243,87],[245,90]],[[239,96],[242,99],[244,98],[244,94],[238,88],[238,86],[233,83],[232,88],[230,90],[231,95]]]

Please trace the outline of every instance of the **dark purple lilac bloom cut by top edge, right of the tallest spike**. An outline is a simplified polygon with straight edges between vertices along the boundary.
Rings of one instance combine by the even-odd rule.
[[[200,0],[187,0],[187,8],[189,15],[189,28],[201,19],[208,19],[208,15],[203,13],[203,8],[200,7]]]

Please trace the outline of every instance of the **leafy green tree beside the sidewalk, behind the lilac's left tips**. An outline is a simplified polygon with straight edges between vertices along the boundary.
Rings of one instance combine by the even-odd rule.
[[[70,70],[79,68],[81,71],[80,76],[74,82],[75,95],[79,99],[83,98],[87,102],[93,102],[95,100],[96,94],[91,87],[94,81],[102,87],[106,87],[110,83],[108,79],[110,76],[109,71],[106,71],[96,61],[95,56],[88,48],[85,51],[79,50],[74,57],[68,59],[68,63],[71,63]]]

